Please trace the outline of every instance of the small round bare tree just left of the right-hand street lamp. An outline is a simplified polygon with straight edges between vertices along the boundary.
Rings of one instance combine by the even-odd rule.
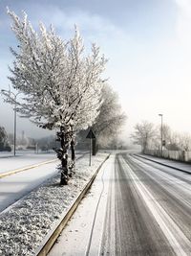
[[[141,151],[145,152],[148,149],[149,143],[156,136],[156,128],[152,123],[142,121],[135,126],[134,133],[131,134],[135,144],[141,146]]]

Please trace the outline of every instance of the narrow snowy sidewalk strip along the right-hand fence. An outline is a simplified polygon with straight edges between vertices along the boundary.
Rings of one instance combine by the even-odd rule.
[[[155,163],[159,163],[166,167],[171,167],[173,169],[179,170],[184,173],[191,174],[191,163],[182,163],[175,160],[169,160],[165,158],[159,158],[157,156],[148,155],[148,154],[142,154],[142,153],[136,153],[138,157],[141,157],[143,159],[150,160]]]

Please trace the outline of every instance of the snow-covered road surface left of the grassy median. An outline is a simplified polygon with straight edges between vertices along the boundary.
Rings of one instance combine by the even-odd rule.
[[[76,153],[76,157],[81,155],[82,152],[78,151]],[[55,159],[55,161],[52,163],[47,163],[21,173],[0,178],[0,212],[18,199],[23,198],[48,178],[56,175],[58,173],[56,166],[59,164],[59,161],[56,160],[56,156],[53,153],[31,153],[10,158],[0,158],[2,173],[24,167],[30,168],[34,164],[44,163],[53,159]]]

